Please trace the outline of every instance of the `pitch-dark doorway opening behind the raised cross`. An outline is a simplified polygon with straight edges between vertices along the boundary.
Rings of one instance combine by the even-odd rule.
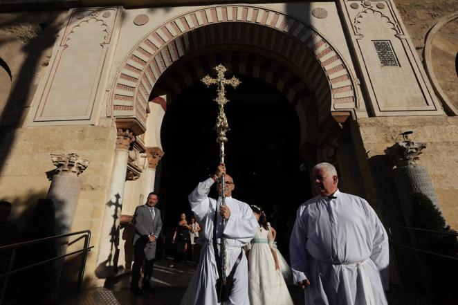
[[[228,89],[226,115],[230,125],[226,167],[235,181],[233,196],[260,205],[277,225],[279,247],[284,255],[297,207],[311,198],[309,176],[300,166],[300,123],[291,102],[273,86],[253,77],[237,76],[241,85]],[[169,106],[163,119],[161,140],[161,206],[165,212],[166,244],[181,212],[190,211],[187,196],[214,173],[219,146],[213,130],[216,89],[196,83]],[[302,169],[302,171],[301,171]],[[215,198],[216,192],[210,193]],[[275,206],[277,205],[277,206]],[[169,248],[169,247],[167,247]],[[168,254],[169,251],[166,252]]]

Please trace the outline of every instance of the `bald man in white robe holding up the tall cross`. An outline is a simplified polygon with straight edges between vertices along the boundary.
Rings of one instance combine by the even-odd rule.
[[[196,189],[190,194],[189,201],[191,210],[194,212],[196,221],[201,224],[199,239],[202,242],[201,258],[199,265],[194,272],[190,284],[187,286],[185,296],[181,300],[181,305],[210,305],[219,304],[217,301],[217,292],[215,284],[219,277],[217,262],[214,259],[214,250],[212,244],[213,238],[213,221],[215,211],[217,214],[217,243],[218,252],[221,257],[219,244],[224,234],[226,237],[226,275],[229,275],[232,266],[242,251],[242,247],[253,239],[259,224],[250,206],[231,197],[234,190],[234,181],[229,175],[225,175],[226,186],[226,205],[221,205],[221,189],[219,183],[217,190],[219,192],[218,200],[208,197],[210,187],[226,173],[226,167],[219,165],[216,174],[207,180],[199,183]],[[227,219],[224,232],[222,229],[222,217]],[[224,304],[249,305],[248,298],[248,261],[246,255],[242,255],[241,261],[237,266],[234,275],[234,286],[229,296],[228,302]]]

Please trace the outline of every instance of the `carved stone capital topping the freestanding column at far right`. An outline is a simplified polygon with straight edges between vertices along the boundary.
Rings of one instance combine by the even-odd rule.
[[[416,165],[421,155],[421,150],[426,148],[425,143],[405,140],[396,142],[392,147],[385,149],[385,154],[390,156],[396,167]]]

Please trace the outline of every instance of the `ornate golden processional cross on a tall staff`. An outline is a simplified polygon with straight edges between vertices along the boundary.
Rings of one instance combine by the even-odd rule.
[[[226,118],[226,113],[224,113],[224,105],[229,102],[226,98],[226,85],[232,86],[236,88],[241,83],[235,76],[232,76],[230,79],[224,78],[224,73],[228,71],[225,66],[219,64],[218,66],[214,67],[214,70],[217,71],[217,78],[210,77],[210,75],[206,75],[201,80],[207,87],[212,84],[217,85],[217,98],[214,99],[219,106],[219,113],[217,118],[217,124],[214,126],[214,130],[217,131],[217,142],[219,144],[219,158],[220,163],[224,163],[224,143],[228,142],[228,138],[226,138],[226,132],[230,130],[228,124],[228,118]],[[219,180],[221,183],[221,205],[225,203],[225,193],[226,193],[226,184],[224,182],[224,175],[221,176]],[[226,226],[226,219],[223,218],[223,228],[221,228],[221,232],[224,231],[224,227]],[[213,237],[216,238],[216,237]],[[221,238],[221,271],[223,281],[226,281],[226,239],[223,237]]]

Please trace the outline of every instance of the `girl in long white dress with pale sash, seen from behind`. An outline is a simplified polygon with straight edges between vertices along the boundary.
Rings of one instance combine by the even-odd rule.
[[[251,209],[259,223],[259,230],[247,247],[250,304],[293,305],[280,270],[266,215],[256,205],[251,205]]]

